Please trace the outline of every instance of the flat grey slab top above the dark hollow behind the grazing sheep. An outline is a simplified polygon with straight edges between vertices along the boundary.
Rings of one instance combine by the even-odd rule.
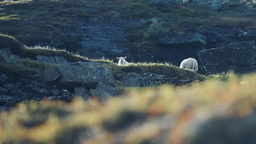
[[[206,44],[206,37],[200,33],[190,32],[177,32],[177,33],[165,33],[160,35],[157,44],[182,44],[182,43],[196,43]]]

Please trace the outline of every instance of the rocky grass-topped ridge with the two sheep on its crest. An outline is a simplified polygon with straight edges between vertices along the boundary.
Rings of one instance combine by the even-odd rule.
[[[63,50],[26,47],[9,35],[0,35],[0,105],[24,100],[74,97],[105,101],[126,87],[170,84],[181,86],[204,76],[168,64],[118,66],[112,61],[87,59]]]

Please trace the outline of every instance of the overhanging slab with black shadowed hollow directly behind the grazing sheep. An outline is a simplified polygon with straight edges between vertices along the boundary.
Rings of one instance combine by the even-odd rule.
[[[207,38],[200,33],[173,32],[160,35],[156,45],[160,49],[159,61],[179,66],[183,59],[197,59],[197,51],[205,46]]]

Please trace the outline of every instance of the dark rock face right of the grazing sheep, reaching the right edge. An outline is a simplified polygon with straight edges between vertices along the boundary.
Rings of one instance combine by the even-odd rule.
[[[230,43],[216,49],[202,50],[199,57],[210,74],[229,69],[238,73],[256,70],[255,41]]]

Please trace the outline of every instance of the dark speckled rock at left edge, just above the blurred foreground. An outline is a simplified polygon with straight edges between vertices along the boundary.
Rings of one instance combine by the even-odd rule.
[[[41,100],[42,98],[71,100],[71,93],[39,79],[19,79],[0,75],[0,105],[13,105],[23,100]]]

